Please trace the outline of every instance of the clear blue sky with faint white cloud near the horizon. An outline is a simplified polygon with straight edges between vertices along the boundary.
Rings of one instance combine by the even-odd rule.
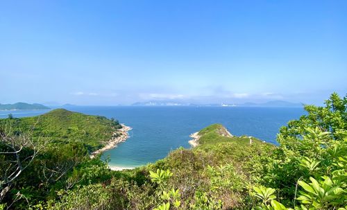
[[[347,1],[1,1],[0,103],[319,103]]]

